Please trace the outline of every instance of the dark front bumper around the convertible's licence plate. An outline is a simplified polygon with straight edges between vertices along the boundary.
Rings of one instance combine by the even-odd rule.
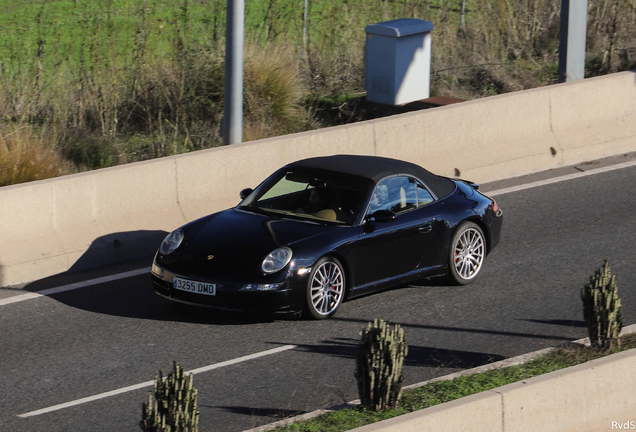
[[[216,283],[216,295],[204,295],[175,289],[174,277]],[[304,293],[302,280],[286,278],[279,290],[241,291],[240,288],[250,282],[219,282],[206,280],[193,275],[177,274],[156,262],[151,271],[155,293],[179,303],[202,306],[219,310],[249,311],[259,313],[292,312],[302,310]]]

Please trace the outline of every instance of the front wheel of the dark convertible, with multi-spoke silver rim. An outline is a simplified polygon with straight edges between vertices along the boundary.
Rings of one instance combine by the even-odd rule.
[[[335,258],[320,258],[307,282],[306,313],[309,318],[325,319],[336,313],[345,295],[345,273]]]

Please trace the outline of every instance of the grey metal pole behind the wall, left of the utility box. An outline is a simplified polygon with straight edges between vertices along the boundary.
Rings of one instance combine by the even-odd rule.
[[[243,43],[245,0],[228,0],[225,35],[225,97],[221,135],[223,144],[243,141]]]

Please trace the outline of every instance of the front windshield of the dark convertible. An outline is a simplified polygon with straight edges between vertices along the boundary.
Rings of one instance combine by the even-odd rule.
[[[369,180],[331,172],[283,169],[239,204],[275,216],[353,225],[366,204]]]

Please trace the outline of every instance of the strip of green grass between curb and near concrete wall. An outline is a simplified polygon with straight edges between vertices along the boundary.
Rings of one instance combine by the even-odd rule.
[[[620,348],[600,351],[591,347],[559,348],[525,364],[494,369],[447,381],[435,381],[404,392],[395,410],[373,412],[359,407],[329,412],[310,420],[272,429],[275,432],[340,432],[450,402],[465,396],[575,366],[620,351],[636,348],[636,335],[621,338]]]

